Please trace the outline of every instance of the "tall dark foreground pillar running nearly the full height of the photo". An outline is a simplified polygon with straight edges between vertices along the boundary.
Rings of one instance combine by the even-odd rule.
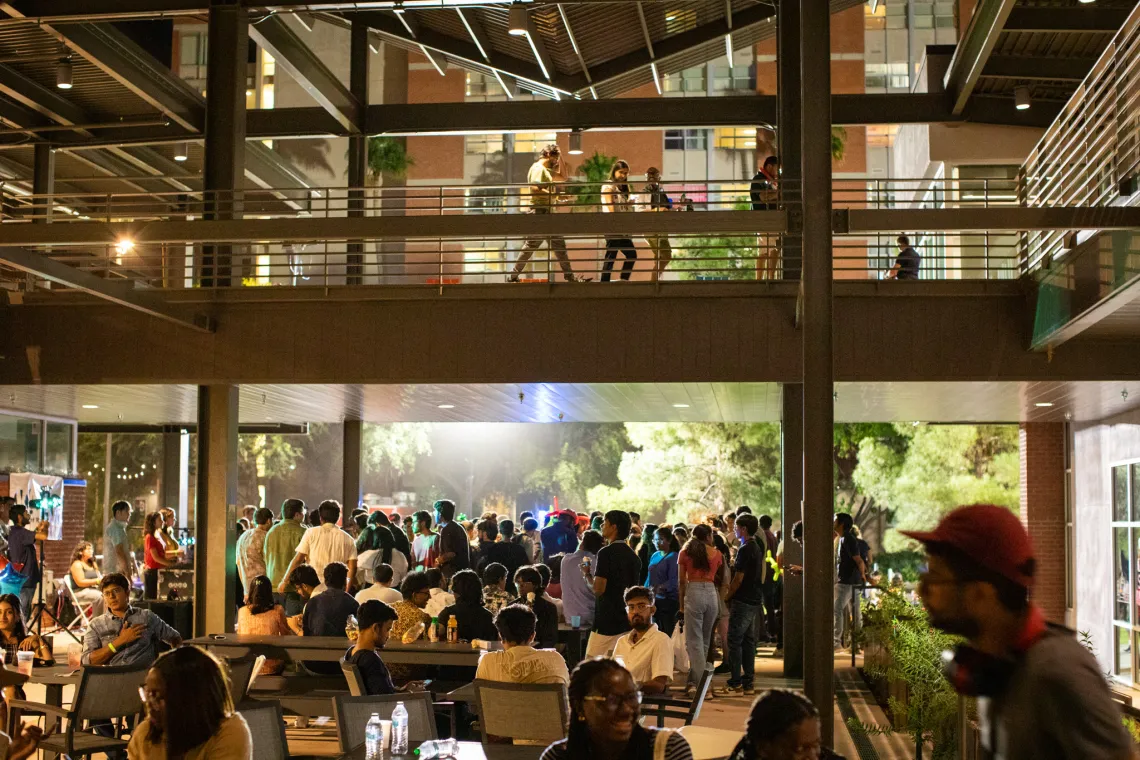
[[[800,157],[804,172],[804,690],[834,733],[834,520],[831,328],[831,14],[800,2]]]

